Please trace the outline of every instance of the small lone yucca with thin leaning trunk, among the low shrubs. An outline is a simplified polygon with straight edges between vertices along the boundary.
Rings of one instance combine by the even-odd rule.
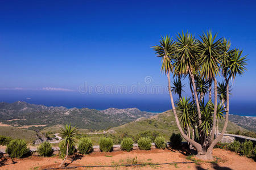
[[[75,139],[77,137],[77,132],[78,132],[77,128],[72,127],[71,124],[69,124],[69,125],[66,124],[65,128],[61,128],[60,130],[61,130],[60,135],[64,139],[65,145],[67,145],[67,151],[66,151],[66,156],[59,167],[61,167],[64,164],[65,160],[67,160],[68,148],[71,144],[73,144],[75,142]]]

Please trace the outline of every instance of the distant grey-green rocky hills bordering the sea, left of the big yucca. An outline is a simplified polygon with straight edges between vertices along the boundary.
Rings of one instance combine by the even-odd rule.
[[[152,115],[154,113],[143,112],[137,108],[109,108],[98,111],[89,108],[46,107],[24,101],[0,103],[0,122],[12,126],[71,123],[85,129],[108,129]]]

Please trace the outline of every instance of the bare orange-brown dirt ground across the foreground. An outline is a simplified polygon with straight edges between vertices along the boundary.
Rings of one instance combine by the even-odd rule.
[[[183,152],[173,150],[133,150],[131,152],[93,152],[89,155],[71,156],[66,162],[67,167],[81,165],[123,165],[123,164],[153,164],[153,163],[173,163],[165,165],[144,165],[133,167],[97,167],[97,168],[76,168],[76,169],[256,169],[256,162],[253,159],[240,156],[234,152],[214,149],[216,162],[177,163],[191,162]],[[40,156],[30,156],[23,159],[3,158],[0,169],[46,169],[56,168],[62,162],[58,156],[43,158]],[[176,162],[176,163],[174,163]]]

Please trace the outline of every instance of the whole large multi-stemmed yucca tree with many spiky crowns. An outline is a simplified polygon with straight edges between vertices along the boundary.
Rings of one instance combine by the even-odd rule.
[[[172,46],[172,48],[170,48],[170,46]],[[228,125],[229,82],[231,80],[234,81],[236,75],[241,75],[245,72],[245,57],[242,57],[242,52],[240,50],[230,50],[230,42],[222,38],[217,39],[217,34],[213,35],[211,31],[208,31],[206,34],[203,33],[203,35],[200,36],[200,40],[195,40],[195,37],[188,32],[178,33],[176,42],[170,41],[170,38],[162,38],[160,40],[160,45],[154,46],[153,48],[155,49],[157,56],[162,57],[161,70],[167,74],[168,77],[168,90],[171,98],[171,105],[181,135],[188,141],[188,143],[196,148],[197,157],[201,159],[213,159],[212,149],[223,137],[226,126]],[[170,52],[168,52],[167,49],[171,49]],[[174,77],[185,77],[188,75],[194,106],[193,112],[191,112],[193,113],[192,119],[191,117],[188,117],[189,112],[186,111],[188,109],[182,109],[185,108],[184,106],[188,105],[187,99],[181,98],[180,101],[176,102],[177,109],[179,109],[180,113],[177,115],[174,99],[172,97],[170,73],[174,74]],[[226,90],[221,90],[220,88],[217,89],[217,75],[222,75],[224,78]],[[201,97],[203,104],[199,103],[199,94],[201,95],[202,91],[206,91],[204,87],[200,88],[200,83],[197,83],[195,80],[196,77],[203,79],[205,82],[209,81],[209,94],[211,93],[210,86],[212,84],[210,81],[213,80],[214,104],[211,99],[207,104],[204,104],[203,97]],[[198,93],[198,91],[200,92]],[[219,103],[218,99],[221,99]],[[224,109],[224,128],[221,130],[221,134],[214,139],[215,131],[217,131],[216,123],[218,126],[218,119],[222,117]],[[193,120],[193,124],[188,120]],[[195,125],[199,132],[200,142],[196,142],[188,137],[181,128],[180,122],[184,127],[189,126],[189,124],[192,126]]]

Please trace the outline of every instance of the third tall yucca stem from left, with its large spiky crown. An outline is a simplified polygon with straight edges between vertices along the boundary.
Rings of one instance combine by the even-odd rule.
[[[216,40],[217,33],[212,34],[212,31],[207,31],[200,36],[201,40],[197,40],[197,45],[200,53],[200,75],[209,80],[209,100],[211,101],[211,86],[214,82],[214,110],[213,110],[213,130],[210,135],[210,141],[213,141],[216,129],[216,114],[217,114],[217,80],[216,75],[220,71],[220,54],[222,52],[222,38]]]

